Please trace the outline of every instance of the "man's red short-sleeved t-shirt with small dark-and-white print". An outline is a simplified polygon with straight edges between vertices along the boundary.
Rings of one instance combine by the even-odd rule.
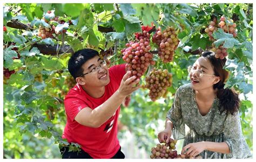
[[[78,143],[93,158],[112,158],[120,149],[117,139],[117,120],[120,106],[113,116],[98,128],[88,127],[76,122],[77,113],[85,107],[95,109],[117,91],[125,74],[125,64],[112,66],[109,69],[110,83],[105,86],[105,93],[100,98],[89,96],[76,84],[65,96],[66,126],[62,138],[69,143]]]

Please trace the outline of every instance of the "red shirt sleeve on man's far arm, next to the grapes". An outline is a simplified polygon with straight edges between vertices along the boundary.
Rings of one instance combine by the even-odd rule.
[[[126,73],[125,72],[125,64],[112,66],[109,69],[109,71],[111,72],[113,79],[115,79],[116,82],[120,85],[120,83]]]

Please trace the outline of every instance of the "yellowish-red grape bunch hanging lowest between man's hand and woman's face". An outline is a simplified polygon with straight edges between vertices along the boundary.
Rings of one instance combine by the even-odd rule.
[[[149,76],[146,76],[146,88],[150,90],[152,101],[163,96],[169,86],[172,85],[172,74],[165,70],[153,68]]]

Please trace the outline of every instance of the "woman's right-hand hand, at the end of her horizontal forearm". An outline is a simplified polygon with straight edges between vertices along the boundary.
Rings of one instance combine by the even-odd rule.
[[[187,150],[188,149],[188,150]],[[186,151],[187,150],[187,151]],[[188,154],[189,156],[196,157],[199,153],[206,150],[206,143],[204,141],[198,143],[191,143],[183,147],[181,154]]]

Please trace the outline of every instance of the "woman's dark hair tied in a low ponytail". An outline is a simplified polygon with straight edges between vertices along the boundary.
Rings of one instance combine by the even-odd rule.
[[[215,58],[214,54],[215,53],[213,52],[206,51],[202,54],[202,56],[210,60],[214,70],[214,75],[220,77],[220,81],[213,85],[213,89],[218,89],[217,97],[220,100],[220,112],[223,113],[226,111],[226,113],[230,112],[233,114],[239,110],[240,99],[238,97],[238,93],[235,92],[234,89],[224,89],[226,80],[229,76],[228,71],[223,69],[227,59]]]

